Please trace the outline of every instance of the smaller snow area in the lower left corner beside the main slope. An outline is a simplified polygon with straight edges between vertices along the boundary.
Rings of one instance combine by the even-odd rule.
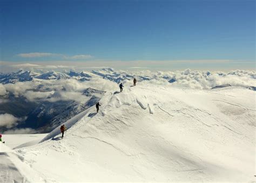
[[[28,147],[38,144],[46,134],[5,134],[5,144],[0,143],[0,182],[45,182],[18,152],[15,147]]]

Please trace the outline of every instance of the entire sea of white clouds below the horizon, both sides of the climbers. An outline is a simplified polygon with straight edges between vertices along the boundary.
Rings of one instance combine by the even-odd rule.
[[[101,72],[101,71],[99,71]],[[89,72],[90,73],[90,72]],[[209,90],[212,87],[230,84],[231,86],[250,87],[256,86],[256,72],[253,70],[234,70],[230,72],[223,71],[193,71],[190,69],[184,71],[102,71],[103,75],[118,78],[122,77],[122,83],[125,86],[132,85],[133,77],[137,78],[137,85],[161,85],[172,87],[185,87],[190,89]],[[118,91],[118,83],[115,83],[104,76],[92,74],[89,81],[80,82],[76,78],[69,79],[36,79],[30,82],[17,82],[14,84],[0,84],[0,104],[8,102],[5,97],[11,92],[16,98],[25,97],[26,100],[56,102],[59,100],[74,100],[79,103],[85,103],[89,97],[83,95],[88,87],[100,91]],[[132,77],[125,77],[125,76]],[[145,79],[146,78],[146,79]],[[0,114],[0,127],[14,127],[21,120],[12,116],[12,114]],[[16,130],[16,131],[15,131]],[[28,133],[32,129],[15,129],[10,133]],[[9,132],[8,132],[9,133]]]

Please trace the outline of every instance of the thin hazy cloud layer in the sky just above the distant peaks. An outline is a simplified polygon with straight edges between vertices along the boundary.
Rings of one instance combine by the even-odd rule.
[[[44,62],[41,58],[37,61],[24,60],[22,62],[4,62],[0,61],[2,67],[0,72],[10,72],[19,69],[76,69],[79,71],[89,69],[99,69],[104,67],[113,67],[115,69],[126,70],[145,70],[152,71],[171,71],[181,69],[197,69],[197,70],[234,70],[234,69],[253,69],[255,68],[255,60],[228,60],[228,59],[199,59],[199,60],[100,60],[95,57],[83,54],[83,55],[62,55],[51,53],[52,56],[46,57]],[[54,56],[53,56],[54,55]],[[36,58],[35,58],[36,59]],[[41,59],[41,61],[39,60]],[[81,62],[83,61],[83,62]]]

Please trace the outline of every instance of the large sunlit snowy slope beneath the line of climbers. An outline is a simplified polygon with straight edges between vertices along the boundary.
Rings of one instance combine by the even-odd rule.
[[[254,91],[147,85],[100,104],[67,121],[63,139],[58,127],[16,152],[51,181],[254,180]]]

